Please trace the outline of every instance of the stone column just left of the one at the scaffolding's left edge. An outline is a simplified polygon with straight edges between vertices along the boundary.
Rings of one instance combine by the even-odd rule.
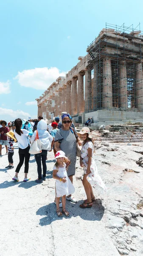
[[[83,74],[78,74],[78,113],[84,112],[84,78]]]

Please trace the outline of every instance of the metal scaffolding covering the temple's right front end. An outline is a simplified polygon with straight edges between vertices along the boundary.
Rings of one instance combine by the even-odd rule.
[[[143,33],[140,23],[106,23],[88,46],[88,96],[85,112],[98,109],[143,111]]]

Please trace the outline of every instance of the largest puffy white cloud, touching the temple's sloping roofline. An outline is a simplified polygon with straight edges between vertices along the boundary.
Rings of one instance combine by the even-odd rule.
[[[59,76],[65,76],[66,72],[61,72],[57,67],[42,67],[18,72],[14,78],[21,86],[31,87],[36,90],[46,90]]]

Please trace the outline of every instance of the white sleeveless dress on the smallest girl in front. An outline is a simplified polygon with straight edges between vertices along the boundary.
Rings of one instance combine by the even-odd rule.
[[[67,176],[66,164],[64,163],[63,167],[53,166],[53,170],[57,170],[56,175],[60,178],[66,177],[66,182],[62,182],[60,180],[56,180],[56,196],[61,197],[63,195],[70,195],[75,192],[75,188],[71,183],[69,177]]]

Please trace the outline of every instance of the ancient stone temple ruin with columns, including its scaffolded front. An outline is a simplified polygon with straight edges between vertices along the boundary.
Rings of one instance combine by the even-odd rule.
[[[139,30],[137,30],[137,28]],[[67,111],[93,126],[143,122],[143,34],[106,23],[87,55],[36,99],[38,115],[50,119]]]

